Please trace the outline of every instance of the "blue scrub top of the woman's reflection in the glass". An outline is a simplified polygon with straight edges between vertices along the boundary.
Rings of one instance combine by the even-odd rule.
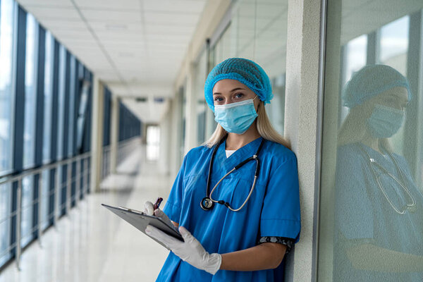
[[[404,157],[393,154],[405,177],[405,187],[414,197],[415,212],[398,214],[377,184],[359,143],[338,147],[336,166],[335,237],[333,281],[423,281],[418,273],[393,273],[355,269],[348,248],[369,243],[396,252],[423,256],[423,195],[417,189]],[[390,158],[371,147],[363,149],[398,180],[403,181]],[[410,202],[403,188],[381,168],[374,166],[379,183],[397,209]]]

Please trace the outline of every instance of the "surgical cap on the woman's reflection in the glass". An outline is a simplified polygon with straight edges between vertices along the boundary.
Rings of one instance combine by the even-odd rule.
[[[411,100],[410,84],[395,68],[386,65],[364,66],[353,74],[343,92],[343,105],[353,108],[363,104],[377,94],[394,87],[405,87],[408,92],[408,101]]]

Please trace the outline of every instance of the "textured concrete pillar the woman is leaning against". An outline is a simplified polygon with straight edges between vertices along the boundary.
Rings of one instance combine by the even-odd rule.
[[[300,242],[288,255],[287,281],[313,281],[319,183],[319,51],[321,0],[288,0],[285,137],[298,158]]]

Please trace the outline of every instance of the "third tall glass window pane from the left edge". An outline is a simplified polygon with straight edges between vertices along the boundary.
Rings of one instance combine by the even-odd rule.
[[[51,115],[53,111],[53,69],[54,69],[54,37],[46,32],[44,61],[44,133],[42,143],[42,159],[44,163],[51,158]]]

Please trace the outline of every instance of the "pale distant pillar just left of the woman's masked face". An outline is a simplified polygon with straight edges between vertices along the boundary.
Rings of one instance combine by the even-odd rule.
[[[197,147],[197,94],[195,93],[195,68],[192,63],[188,66],[185,102],[185,145],[184,152],[188,153],[193,147]]]

